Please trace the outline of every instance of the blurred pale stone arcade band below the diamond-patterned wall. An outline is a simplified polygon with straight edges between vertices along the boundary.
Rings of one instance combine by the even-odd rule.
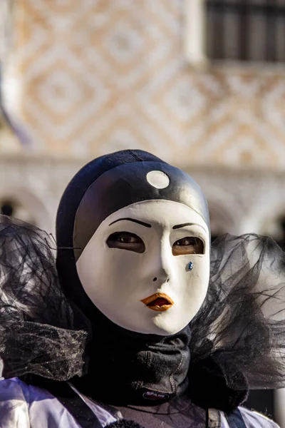
[[[36,225],[54,233],[63,190],[86,161],[1,156],[0,203],[6,199],[16,200]],[[277,220],[285,216],[285,173],[244,171],[240,174],[194,167],[186,171],[206,195],[214,235],[256,232],[280,239]]]

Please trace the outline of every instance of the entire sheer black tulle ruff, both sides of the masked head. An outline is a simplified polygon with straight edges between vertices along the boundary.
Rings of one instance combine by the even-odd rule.
[[[52,246],[38,228],[1,216],[6,377],[63,380],[86,372],[88,323],[61,291]],[[214,242],[209,291],[191,330],[190,374],[197,367],[230,389],[285,386],[285,255],[271,238],[223,235]]]

